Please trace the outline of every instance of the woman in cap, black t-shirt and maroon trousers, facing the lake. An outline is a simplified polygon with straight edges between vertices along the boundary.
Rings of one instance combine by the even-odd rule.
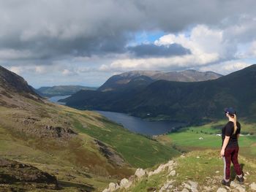
[[[244,183],[241,166],[238,164],[238,137],[241,132],[241,125],[236,120],[236,111],[232,107],[225,109],[225,115],[228,118],[228,122],[222,128],[222,150],[220,151],[220,155],[224,161],[224,179],[222,180],[222,185],[230,186],[231,161],[235,167],[237,180],[241,184]]]

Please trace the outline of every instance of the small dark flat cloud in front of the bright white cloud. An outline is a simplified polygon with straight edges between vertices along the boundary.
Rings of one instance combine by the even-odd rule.
[[[136,57],[167,57],[172,55],[187,55],[190,50],[178,44],[169,46],[157,46],[154,44],[137,45],[135,47],[127,47],[127,49],[135,54]]]

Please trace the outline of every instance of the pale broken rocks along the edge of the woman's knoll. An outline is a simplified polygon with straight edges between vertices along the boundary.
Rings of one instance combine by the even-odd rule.
[[[184,158],[182,156],[181,158]],[[245,191],[256,191],[256,183],[247,183],[246,177],[249,177],[249,172],[246,172],[244,175],[245,182],[243,185],[239,184],[237,180],[233,180],[230,183],[230,187],[223,186],[220,184],[222,176],[208,177],[208,182],[205,185],[197,183],[197,180],[188,180],[181,181],[179,179],[178,170],[176,161],[168,161],[167,164],[161,164],[152,171],[148,169],[137,169],[135,174],[129,177],[129,179],[124,178],[120,183],[110,183],[108,188],[105,188],[103,192],[112,192],[112,191],[156,191],[156,192],[245,192]],[[219,174],[219,171],[217,171]],[[154,175],[161,178],[161,184],[156,185],[155,187],[146,187],[138,190],[136,186],[141,185],[140,183],[145,183],[147,180],[151,180],[151,177]],[[154,178],[155,180],[155,178]]]

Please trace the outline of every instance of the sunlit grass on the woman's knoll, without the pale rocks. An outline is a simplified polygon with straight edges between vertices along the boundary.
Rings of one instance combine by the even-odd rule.
[[[219,150],[197,150],[187,153],[185,157],[174,158],[177,162],[176,176],[167,176],[167,171],[161,172],[143,178],[143,180],[133,184],[128,191],[142,192],[148,191],[149,188],[155,188],[158,191],[167,179],[175,180],[173,188],[178,188],[179,191],[183,188],[182,183],[186,183],[188,180],[198,183],[198,191],[203,191],[205,187],[210,187],[211,191],[217,191],[217,188],[222,187],[220,182],[223,177],[223,161],[218,155]],[[240,156],[239,160],[243,171],[249,172],[245,180],[246,191],[248,191],[248,184],[256,180],[256,162],[243,156]],[[234,180],[236,174],[233,168],[231,170],[231,180]]]

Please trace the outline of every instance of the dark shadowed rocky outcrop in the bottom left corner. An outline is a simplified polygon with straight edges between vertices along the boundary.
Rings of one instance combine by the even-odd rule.
[[[0,191],[3,188],[7,190],[14,186],[24,190],[33,188],[58,189],[55,176],[42,172],[34,166],[0,158]]]

